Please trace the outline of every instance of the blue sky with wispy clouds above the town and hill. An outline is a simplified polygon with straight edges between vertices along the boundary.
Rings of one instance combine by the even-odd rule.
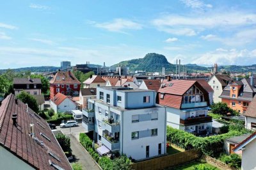
[[[107,66],[156,52],[170,63],[256,64],[256,1],[0,0],[0,69]]]

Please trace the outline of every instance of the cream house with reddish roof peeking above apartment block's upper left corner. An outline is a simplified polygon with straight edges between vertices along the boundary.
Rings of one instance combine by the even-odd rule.
[[[84,88],[97,88],[100,86],[106,86],[106,81],[99,75],[91,75],[86,81],[83,82]]]

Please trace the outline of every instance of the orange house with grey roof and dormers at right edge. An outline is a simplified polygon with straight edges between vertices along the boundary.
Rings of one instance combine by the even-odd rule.
[[[245,113],[250,102],[255,95],[255,79],[241,79],[241,81],[233,81],[220,95],[221,102],[226,103],[228,107]]]

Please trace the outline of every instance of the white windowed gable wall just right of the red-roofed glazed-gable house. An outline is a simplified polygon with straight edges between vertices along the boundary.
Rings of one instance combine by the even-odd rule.
[[[214,92],[213,92],[213,102],[214,103],[218,103],[218,102],[221,102],[221,98],[219,98],[220,97],[220,95],[221,95],[221,93],[222,93],[222,91],[223,91],[223,89],[222,89],[222,85],[221,85],[221,82],[220,81],[218,81],[218,79],[216,78],[216,76],[215,75],[213,75],[212,77],[211,77],[211,79],[208,81],[208,84],[211,86],[211,88],[214,90]],[[210,95],[209,95],[209,97],[210,97]],[[210,99],[211,100],[211,99]],[[210,101],[211,102],[211,101]]]

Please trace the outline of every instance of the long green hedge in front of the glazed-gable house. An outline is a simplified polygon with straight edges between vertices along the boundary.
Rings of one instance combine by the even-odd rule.
[[[200,149],[205,155],[218,157],[222,151],[223,141],[229,137],[242,135],[243,132],[230,131],[227,134],[212,135],[210,137],[196,137],[189,132],[167,127],[167,141],[185,150]]]

